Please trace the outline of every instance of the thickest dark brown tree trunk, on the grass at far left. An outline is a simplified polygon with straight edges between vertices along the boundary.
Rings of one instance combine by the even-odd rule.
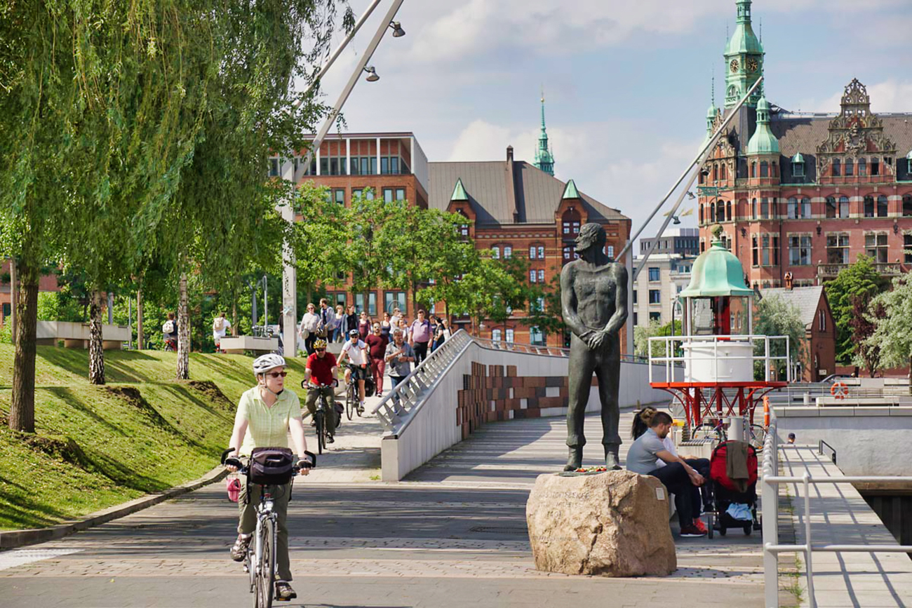
[[[35,432],[35,340],[38,320],[38,268],[20,264],[21,288],[16,308],[16,355],[13,359],[13,396],[9,407],[9,428]]]

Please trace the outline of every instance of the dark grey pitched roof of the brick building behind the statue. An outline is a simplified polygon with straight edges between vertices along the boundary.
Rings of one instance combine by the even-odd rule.
[[[428,205],[446,211],[457,180],[475,210],[478,225],[554,223],[554,210],[562,200],[565,182],[523,160],[513,161],[513,194],[508,187],[508,161],[429,162]],[[616,209],[578,192],[589,222],[626,220]],[[515,201],[512,199],[515,198]],[[514,204],[515,203],[515,204]],[[513,209],[518,218],[513,219]]]

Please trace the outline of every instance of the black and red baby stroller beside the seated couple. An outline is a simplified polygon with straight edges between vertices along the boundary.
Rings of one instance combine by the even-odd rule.
[[[729,528],[741,528],[745,534],[761,529],[760,520],[757,519],[757,450],[744,444],[747,448],[748,479],[743,491],[739,489],[738,482],[729,478],[727,472],[729,452],[734,451],[735,444],[738,443],[744,444],[734,440],[723,441],[712,450],[710,483],[706,484],[709,491],[708,496],[704,497],[709,516],[707,528],[710,539],[714,530],[725,536]],[[731,509],[734,513],[732,515],[731,505],[747,505],[747,509],[736,506]]]

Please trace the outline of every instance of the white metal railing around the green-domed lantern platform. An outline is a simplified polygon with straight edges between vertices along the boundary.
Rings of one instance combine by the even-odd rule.
[[[774,356],[770,354],[770,343],[775,340],[784,340],[785,341],[785,355]],[[763,354],[754,355],[753,347],[754,343],[762,341],[763,343]],[[662,343],[665,346],[665,356],[653,356],[652,355],[652,344],[653,343]],[[679,345],[685,344],[694,344],[694,343],[706,343],[707,345],[712,345],[712,354],[709,356],[694,356],[693,351],[688,349],[683,355],[676,356],[675,351],[676,343]],[[719,356],[719,346],[720,345],[731,345],[731,344],[751,344],[751,356]],[[732,360],[732,359],[750,359],[751,362],[762,361],[763,362],[763,374],[767,382],[770,381],[770,363],[772,361],[789,361],[789,336],[787,335],[657,335],[649,338],[649,382],[653,382],[653,364],[665,364],[665,381],[669,382],[668,378],[674,377],[672,375],[672,366],[684,364],[688,373],[692,373],[693,366],[691,365],[695,361],[712,361],[714,364],[718,363],[720,360]],[[715,367],[714,367],[715,369]],[[687,382],[692,382],[690,376],[686,379]]]

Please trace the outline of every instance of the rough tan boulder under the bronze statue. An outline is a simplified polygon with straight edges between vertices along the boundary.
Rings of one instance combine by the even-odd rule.
[[[627,470],[538,476],[525,506],[535,568],[625,577],[678,568],[668,491]]]

